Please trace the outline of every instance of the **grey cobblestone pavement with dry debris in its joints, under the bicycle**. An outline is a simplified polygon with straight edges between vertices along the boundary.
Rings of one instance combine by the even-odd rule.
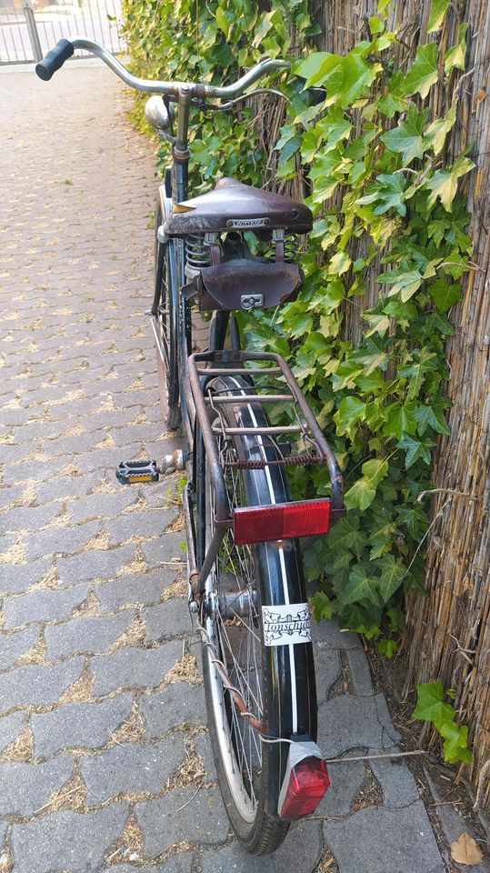
[[[1,78],[0,870],[443,873],[405,764],[332,766],[325,818],[273,858],[229,833],[175,480],[114,476],[175,445],[143,315],[153,155],[100,65]],[[328,757],[393,747],[357,638],[324,624],[315,648]]]

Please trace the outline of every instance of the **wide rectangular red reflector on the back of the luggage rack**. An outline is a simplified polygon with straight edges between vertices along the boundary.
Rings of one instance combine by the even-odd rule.
[[[330,529],[330,500],[301,500],[270,507],[244,507],[233,514],[235,544],[266,543],[275,539],[315,537]]]

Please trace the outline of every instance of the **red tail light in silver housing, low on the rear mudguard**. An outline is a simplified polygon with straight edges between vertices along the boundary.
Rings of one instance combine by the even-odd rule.
[[[310,816],[329,785],[325,759],[315,743],[293,743],[279,796],[279,818]]]

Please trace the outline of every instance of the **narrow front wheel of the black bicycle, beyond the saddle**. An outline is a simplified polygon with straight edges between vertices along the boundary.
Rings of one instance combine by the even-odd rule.
[[[160,405],[167,426],[175,430],[181,420],[178,369],[178,279],[175,241],[162,244],[157,236],[162,225],[162,207],[158,199],[155,208],[155,291],[159,305],[156,311],[157,329],[163,356],[156,349],[156,372]]]

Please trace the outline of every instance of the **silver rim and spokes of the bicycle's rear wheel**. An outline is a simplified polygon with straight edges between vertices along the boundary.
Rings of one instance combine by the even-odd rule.
[[[222,455],[233,453],[233,447],[225,447]],[[228,459],[225,457],[225,460]],[[231,459],[231,458],[229,458]],[[225,481],[228,492],[230,512],[243,505],[242,483],[236,470],[227,467]],[[211,489],[206,487],[208,496],[206,507],[206,547],[213,534],[215,517],[214,498]],[[234,798],[235,806],[242,818],[252,824],[255,820],[257,798],[262,771],[262,743],[257,732],[251,728],[250,720],[243,717],[229,690],[213,664],[215,654],[225,664],[230,684],[238,689],[245,701],[247,711],[259,720],[265,719],[262,640],[259,611],[255,597],[256,577],[254,560],[250,548],[235,547],[231,531],[227,531],[215,567],[205,584],[206,603],[211,605],[211,615],[205,620],[207,636],[214,652],[206,648],[208,659],[210,695],[215,720],[216,737],[220,756],[225,770],[228,788]],[[248,595],[248,608],[238,616],[231,610],[233,619],[224,616],[220,608],[220,596]],[[228,598],[230,609],[230,598]]]

